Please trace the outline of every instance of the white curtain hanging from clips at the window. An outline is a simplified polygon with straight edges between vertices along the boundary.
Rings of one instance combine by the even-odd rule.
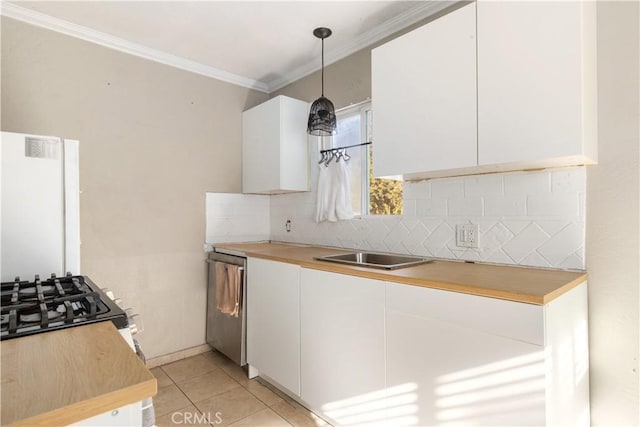
[[[329,164],[320,163],[318,168],[316,222],[353,218],[349,163],[344,158],[334,158]]]

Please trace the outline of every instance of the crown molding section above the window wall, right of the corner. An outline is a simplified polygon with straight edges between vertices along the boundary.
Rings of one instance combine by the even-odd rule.
[[[377,27],[371,28],[369,31],[361,34],[350,42],[344,43],[335,49],[327,50],[324,57],[325,67],[341,59],[344,59],[347,56],[358,52],[359,50],[371,46],[384,39],[385,37],[401,31],[410,25],[420,22],[421,20],[426,19],[429,16],[432,16],[455,3],[456,0],[425,1],[420,6],[397,15],[394,18],[384,22],[383,24],[378,25]],[[290,83],[293,83],[318,71],[320,68],[321,67],[317,65],[316,61],[309,62],[293,69],[291,72],[279,78],[270,80],[265,83],[267,83],[269,87],[269,92],[274,92],[278,89],[282,89]]]

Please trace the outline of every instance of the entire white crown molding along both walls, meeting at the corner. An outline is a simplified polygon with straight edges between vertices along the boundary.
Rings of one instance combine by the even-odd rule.
[[[371,46],[383,38],[445,9],[455,2],[455,0],[425,1],[420,6],[412,8],[377,27],[371,28],[369,31],[361,34],[352,41],[328,50],[325,54],[325,65],[331,65],[359,50]],[[204,65],[200,62],[192,61],[190,59],[153,49],[138,43],[133,43],[128,40],[111,36],[63,19],[54,18],[50,15],[45,15],[13,3],[1,2],[0,14],[8,18],[26,22],[37,27],[46,28],[51,31],[56,31],[58,33],[82,39],[110,49],[168,65],[170,67],[190,71],[206,77],[222,80],[227,83],[255,89],[264,93],[272,93],[320,69],[316,61],[312,61],[291,70],[291,72],[283,76],[265,82],[229,73],[218,68]]]

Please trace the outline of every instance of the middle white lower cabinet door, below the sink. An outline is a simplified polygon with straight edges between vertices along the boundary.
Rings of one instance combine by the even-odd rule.
[[[384,422],[384,282],[301,277],[302,400],[337,425]]]

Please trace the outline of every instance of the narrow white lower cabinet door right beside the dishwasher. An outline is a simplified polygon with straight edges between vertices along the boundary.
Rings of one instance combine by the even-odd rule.
[[[247,259],[247,362],[300,394],[300,267]]]

